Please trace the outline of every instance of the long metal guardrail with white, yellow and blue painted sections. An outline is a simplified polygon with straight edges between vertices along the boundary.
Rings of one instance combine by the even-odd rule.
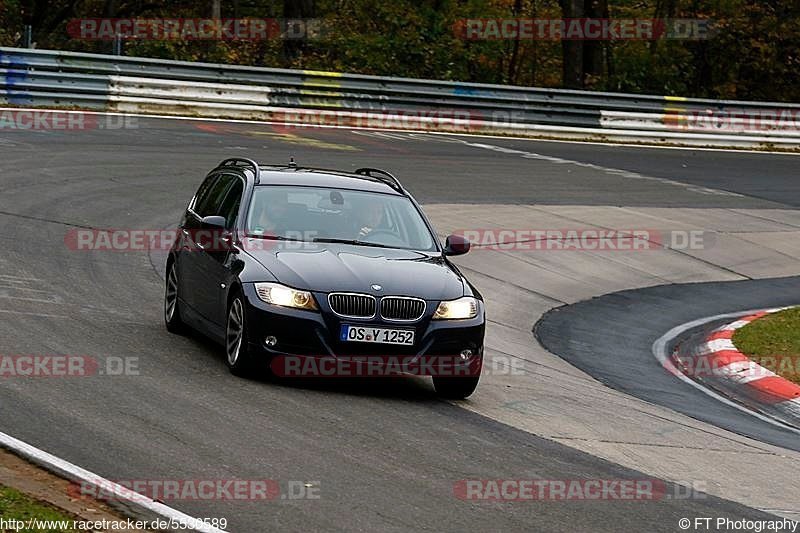
[[[0,104],[600,141],[800,147],[800,105],[0,48]]]

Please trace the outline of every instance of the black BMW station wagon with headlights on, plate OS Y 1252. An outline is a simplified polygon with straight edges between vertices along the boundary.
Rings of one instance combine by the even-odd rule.
[[[166,326],[218,341],[237,375],[287,357],[380,356],[465,398],[483,365],[485,311],[449,257],[469,248],[459,235],[442,246],[386,171],[227,159],[180,221]]]

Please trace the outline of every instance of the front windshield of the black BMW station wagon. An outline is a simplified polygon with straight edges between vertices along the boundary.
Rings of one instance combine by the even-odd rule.
[[[247,216],[251,237],[436,250],[405,196],[347,189],[261,185]]]

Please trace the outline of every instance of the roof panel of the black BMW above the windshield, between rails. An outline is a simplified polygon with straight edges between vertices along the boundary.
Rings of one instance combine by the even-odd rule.
[[[403,196],[400,192],[379,179],[336,170],[314,168],[285,168],[259,165],[261,185],[299,185],[305,187],[328,187],[334,189],[353,189],[380,192]]]

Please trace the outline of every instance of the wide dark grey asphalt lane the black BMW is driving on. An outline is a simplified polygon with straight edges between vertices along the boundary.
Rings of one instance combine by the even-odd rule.
[[[76,252],[64,239],[75,227],[168,227],[204,173],[237,155],[384,167],[423,202],[768,207],[779,198],[698,195],[690,190],[697,171],[679,170],[669,151],[648,153],[650,164],[634,174],[621,166],[644,157],[636,148],[613,149],[631,160],[624,164],[597,155],[567,168],[556,159],[584,157],[574,145],[554,159],[542,157],[551,143],[199,126],[140,119],[135,129],[0,134],[0,353],[135,357],[141,374],[2,379],[0,430],[115,480],[319,483],[319,500],[169,502],[226,517],[239,532],[676,531],[687,515],[769,517],[714,497],[461,501],[453,486],[463,479],[647,476],[441,402],[422,381],[310,387],[234,378],[216,346],[166,333],[160,265],[148,254]],[[714,157],[718,176],[760,176],[767,158],[785,156]],[[674,172],[655,173],[672,181],[652,175],[661,167]],[[776,164],[760,186],[783,186],[792,168]]]

